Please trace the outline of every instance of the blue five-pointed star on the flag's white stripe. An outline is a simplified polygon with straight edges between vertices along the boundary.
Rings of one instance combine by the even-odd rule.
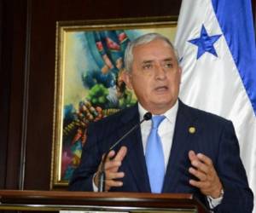
[[[200,37],[189,40],[189,43],[193,43],[198,47],[196,59],[199,59],[205,52],[211,53],[212,55],[218,57],[213,44],[218,41],[219,37],[221,37],[221,35],[209,36],[207,34],[206,27],[202,25]]]

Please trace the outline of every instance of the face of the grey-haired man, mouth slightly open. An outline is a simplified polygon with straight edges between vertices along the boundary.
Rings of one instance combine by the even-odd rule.
[[[133,49],[133,63],[125,83],[142,106],[154,114],[170,109],[177,101],[181,68],[171,47],[160,39]]]

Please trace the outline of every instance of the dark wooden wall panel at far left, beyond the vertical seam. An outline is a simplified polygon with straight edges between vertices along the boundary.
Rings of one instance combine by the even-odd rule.
[[[26,3],[11,0],[1,5],[0,185],[9,188],[17,187],[19,180]]]

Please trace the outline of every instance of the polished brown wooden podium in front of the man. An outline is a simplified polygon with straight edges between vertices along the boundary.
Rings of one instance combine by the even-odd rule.
[[[84,211],[181,213],[208,212],[189,193],[86,193],[66,191],[0,190],[0,211]]]

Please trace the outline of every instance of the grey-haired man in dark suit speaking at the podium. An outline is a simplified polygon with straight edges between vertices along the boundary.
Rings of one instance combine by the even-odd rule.
[[[134,90],[138,103],[90,124],[81,164],[73,173],[69,189],[96,191],[102,155],[138,124],[145,112],[152,112],[153,117],[165,116],[157,133],[165,168],[160,193],[194,193],[214,212],[252,212],[253,193],[233,124],[178,100],[181,68],[177,61],[172,43],[157,33],[128,45],[125,83]],[[148,175],[151,168],[145,160],[151,124],[151,120],[143,122],[108,153],[106,191],[153,191],[154,176]]]

